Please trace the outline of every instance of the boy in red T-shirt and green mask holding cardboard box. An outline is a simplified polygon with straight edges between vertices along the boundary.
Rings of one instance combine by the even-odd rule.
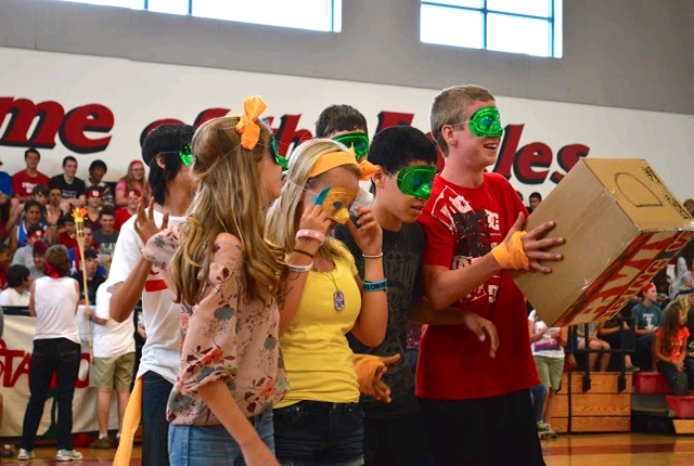
[[[528,389],[539,384],[525,299],[504,269],[549,273],[538,240],[525,234],[515,190],[494,164],[503,133],[493,95],[476,86],[444,90],[429,115],[446,159],[419,221],[426,234],[424,282],[435,309],[458,306],[489,319],[499,333],[496,358],[464,326],[429,325],[422,336],[416,393],[436,465],[543,465]]]

